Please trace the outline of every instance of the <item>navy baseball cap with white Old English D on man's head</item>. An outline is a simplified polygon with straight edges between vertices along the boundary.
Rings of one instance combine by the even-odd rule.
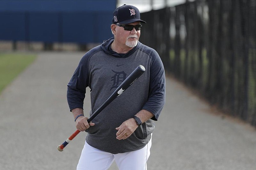
[[[113,24],[130,24],[136,21],[146,23],[140,19],[140,11],[135,6],[124,4],[123,6],[116,8],[113,12]]]

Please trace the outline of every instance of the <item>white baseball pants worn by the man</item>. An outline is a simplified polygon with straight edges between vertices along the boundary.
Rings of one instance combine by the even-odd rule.
[[[152,136],[140,150],[118,154],[101,151],[85,142],[76,170],[107,170],[114,160],[119,170],[147,170],[151,140]]]

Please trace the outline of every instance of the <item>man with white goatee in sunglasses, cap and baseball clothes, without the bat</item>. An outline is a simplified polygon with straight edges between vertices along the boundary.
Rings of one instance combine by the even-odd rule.
[[[165,75],[157,52],[139,42],[139,10],[123,5],[113,13],[114,37],[88,51],[68,83],[67,99],[76,128],[88,132],[77,170],[145,170],[151,136],[165,102]],[[91,112],[139,65],[144,74],[111,102],[92,122],[84,117],[85,88],[91,89]]]

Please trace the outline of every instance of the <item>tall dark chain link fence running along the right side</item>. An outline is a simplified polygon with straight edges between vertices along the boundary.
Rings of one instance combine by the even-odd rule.
[[[141,13],[140,42],[167,73],[256,127],[256,1],[202,0]]]

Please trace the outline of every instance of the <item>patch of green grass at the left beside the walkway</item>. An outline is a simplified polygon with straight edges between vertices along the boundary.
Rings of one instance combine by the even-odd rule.
[[[35,58],[32,54],[0,53],[0,94]]]

